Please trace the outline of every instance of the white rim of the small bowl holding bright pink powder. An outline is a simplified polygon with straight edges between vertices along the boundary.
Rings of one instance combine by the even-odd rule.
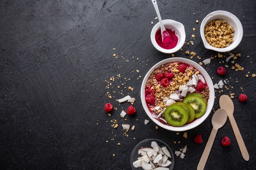
[[[161,46],[159,46],[155,40],[155,33],[157,32],[157,30],[160,28],[160,23],[157,22],[157,24],[155,24],[155,26],[152,28],[151,33],[150,33],[150,39],[151,42],[153,44],[153,46],[155,47],[155,49],[157,49],[158,51],[161,51],[162,53],[175,53],[176,51],[180,50],[182,48],[182,46],[184,45],[185,39],[186,39],[186,32],[184,29],[184,25],[180,22],[177,22],[175,20],[162,20],[163,24],[172,24],[172,25],[177,25],[180,26],[182,29],[180,29],[179,32],[180,33],[180,43],[177,44],[173,49],[163,49]]]

